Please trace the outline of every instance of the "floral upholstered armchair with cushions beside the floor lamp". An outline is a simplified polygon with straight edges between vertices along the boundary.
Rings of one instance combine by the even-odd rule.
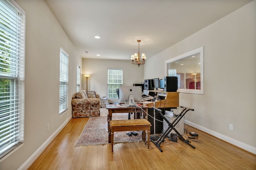
[[[72,98],[72,117],[100,116],[100,96],[95,91],[82,90]]]

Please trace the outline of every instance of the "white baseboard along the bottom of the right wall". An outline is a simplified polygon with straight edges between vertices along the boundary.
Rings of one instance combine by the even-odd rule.
[[[210,129],[207,129],[207,128],[205,128],[205,127],[202,127],[202,126],[200,126],[200,125],[197,125],[197,124],[195,124],[195,123],[192,123],[192,122],[190,122],[190,121],[185,120],[185,122],[186,122],[186,124],[188,124],[188,125],[190,125],[190,126],[196,128],[196,129],[199,129],[200,131],[203,131],[203,132],[205,132],[205,133],[208,133],[208,134],[210,134],[210,135],[212,135],[212,136],[214,136],[214,137],[217,137],[217,138],[219,138],[219,139],[222,139],[223,141],[226,141],[226,142],[228,142],[228,143],[230,143],[230,144],[232,144],[232,145],[235,145],[236,147],[239,147],[239,148],[241,148],[241,149],[247,150],[248,152],[251,152],[251,153],[253,153],[253,154],[256,154],[256,148],[254,148],[254,147],[252,147],[252,146],[250,146],[250,145],[247,145],[247,144],[245,144],[245,143],[242,143],[242,142],[240,142],[240,141],[237,141],[237,140],[235,140],[235,139],[232,139],[232,138],[230,138],[230,137],[227,137],[227,136],[225,136],[225,135],[222,135],[222,134],[220,134],[220,133],[218,133],[218,132],[212,131],[212,130],[210,130]]]

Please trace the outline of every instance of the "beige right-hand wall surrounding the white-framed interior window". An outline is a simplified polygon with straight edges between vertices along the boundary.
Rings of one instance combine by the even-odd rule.
[[[185,119],[256,154],[256,1],[148,59],[144,78],[163,77],[164,61],[202,46],[204,95],[180,93],[180,105],[195,109]]]

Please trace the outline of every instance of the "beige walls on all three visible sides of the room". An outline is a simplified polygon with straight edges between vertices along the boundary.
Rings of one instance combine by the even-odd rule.
[[[147,59],[144,68],[130,61],[82,61],[44,0],[16,2],[26,11],[25,136],[20,147],[0,160],[1,170],[28,168],[70,119],[77,63],[82,74],[92,74],[88,90],[106,96],[107,68],[124,69],[124,85],[140,83],[163,77],[164,61],[202,46],[205,92],[204,95],[180,94],[180,105],[195,109],[187,113],[186,119],[198,129],[256,153],[255,0]],[[70,105],[61,116],[58,115],[60,47],[70,55]],[[85,89],[86,82],[81,77]],[[228,129],[230,123],[234,125],[233,131]]]

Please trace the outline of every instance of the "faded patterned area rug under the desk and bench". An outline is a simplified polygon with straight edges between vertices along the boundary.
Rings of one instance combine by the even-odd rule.
[[[128,119],[128,116],[113,116],[112,120]],[[138,132],[137,136],[129,137],[126,132],[115,132],[114,143],[140,142],[142,141],[142,132]],[[108,123],[107,117],[90,117],[86,123],[82,134],[76,144],[79,146],[88,145],[106,145],[108,144]]]

